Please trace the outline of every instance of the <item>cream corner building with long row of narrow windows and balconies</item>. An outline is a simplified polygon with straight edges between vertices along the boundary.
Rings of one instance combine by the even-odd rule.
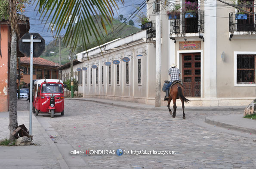
[[[218,8],[223,4],[215,0],[192,0],[190,3],[169,0],[160,6],[154,2],[147,2],[150,23],[142,25],[142,31],[77,54],[81,62],[74,66],[74,70],[79,70],[74,71],[80,80],[78,92],[86,98],[154,104],[154,12],[158,8],[161,18],[161,86],[163,80],[170,78],[170,65],[176,63],[181,71],[185,96],[191,100],[186,106],[250,104],[256,94],[255,16],[238,15],[241,12],[233,7]],[[194,10],[189,6],[191,3],[196,4]],[[179,16],[169,17],[167,11],[175,5],[180,6]],[[254,12],[251,5],[247,10]],[[129,62],[122,60],[126,57]],[[164,95],[162,92],[161,98]],[[181,105],[180,101],[177,104]],[[162,101],[161,105],[167,105],[167,102]]]

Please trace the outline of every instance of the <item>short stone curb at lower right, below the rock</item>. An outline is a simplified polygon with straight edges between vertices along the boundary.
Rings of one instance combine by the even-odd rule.
[[[206,123],[208,123],[210,125],[216,125],[216,126],[224,127],[224,128],[231,129],[231,130],[237,130],[237,131],[242,131],[244,133],[256,134],[256,130],[255,129],[241,127],[241,126],[237,126],[237,125],[231,125],[231,124],[224,123],[224,122],[218,122],[218,121],[215,121],[213,119],[210,119],[210,117],[206,117],[204,122],[206,122]]]

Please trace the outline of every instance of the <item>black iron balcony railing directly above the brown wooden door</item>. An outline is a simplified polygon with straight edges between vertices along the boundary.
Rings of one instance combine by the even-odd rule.
[[[179,19],[171,19],[170,34],[204,33],[204,11],[182,13]]]

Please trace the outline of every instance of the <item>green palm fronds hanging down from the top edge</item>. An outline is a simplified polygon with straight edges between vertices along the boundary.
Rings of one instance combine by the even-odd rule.
[[[99,27],[107,34],[106,24],[111,24],[113,9],[118,9],[118,2],[123,4],[124,0],[38,0],[37,6],[41,18],[55,25],[56,37],[66,29],[68,36],[64,37],[64,43],[69,43],[74,52],[80,38],[86,50],[89,36],[94,35],[98,44],[101,43],[100,35],[103,33]]]

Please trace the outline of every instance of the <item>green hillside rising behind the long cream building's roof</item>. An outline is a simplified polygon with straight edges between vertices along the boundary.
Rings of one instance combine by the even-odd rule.
[[[114,20],[113,21],[113,27],[107,25],[107,32],[108,32],[108,36],[106,38],[103,39],[102,44],[106,43],[106,42],[110,42],[114,39],[117,38],[123,38],[125,36],[128,36],[130,34],[136,33],[138,32],[140,29],[134,26],[130,26],[127,24],[122,24],[120,26],[120,24],[122,24],[120,21],[118,20]],[[114,30],[114,31],[113,31]],[[105,36],[105,32],[101,29],[102,34]],[[103,37],[102,35],[102,37]],[[96,42],[96,39],[94,36],[90,36],[89,37],[89,44],[86,44],[87,49],[93,48],[98,46],[99,44]],[[82,51],[82,46],[83,46],[83,51],[86,50],[85,49],[85,45],[82,44],[82,41],[78,42],[77,44],[78,47],[76,47],[76,50],[74,53],[79,53]],[[69,62],[68,60],[68,55],[69,55],[69,47],[66,47],[62,40],[61,40],[61,55],[62,55],[62,65],[64,65],[65,63]],[[52,52],[56,52],[56,53],[50,53],[50,51]],[[50,60],[52,62],[56,62],[59,63],[59,39],[56,39],[52,42],[50,42],[48,45],[46,45],[46,50],[45,52],[40,56],[44,59]]]

